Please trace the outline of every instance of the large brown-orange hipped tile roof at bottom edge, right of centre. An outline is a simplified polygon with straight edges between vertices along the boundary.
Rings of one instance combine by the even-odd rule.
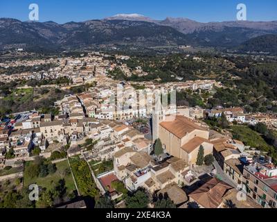
[[[229,189],[233,189],[233,187],[213,178],[188,196],[205,208],[217,208]]]

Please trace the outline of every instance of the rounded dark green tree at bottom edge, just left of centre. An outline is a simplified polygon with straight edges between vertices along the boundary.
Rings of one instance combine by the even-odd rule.
[[[132,196],[127,196],[125,203],[127,208],[147,208],[150,200],[148,194],[139,190]]]

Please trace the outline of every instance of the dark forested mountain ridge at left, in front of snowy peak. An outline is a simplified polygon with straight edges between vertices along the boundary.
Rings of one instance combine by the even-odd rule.
[[[186,44],[174,28],[150,22],[91,20],[88,22],[20,22],[0,19],[0,48],[76,49],[100,44],[162,46]]]

